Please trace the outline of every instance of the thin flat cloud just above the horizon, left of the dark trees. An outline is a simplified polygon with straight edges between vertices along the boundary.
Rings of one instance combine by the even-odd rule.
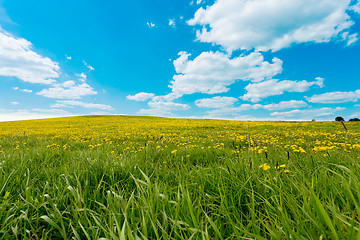
[[[320,109],[304,109],[304,110],[292,110],[288,112],[273,112],[270,115],[280,118],[292,118],[294,120],[310,120],[313,118],[325,118],[330,119],[329,117],[334,116],[337,112],[345,110],[345,108],[320,108]]]

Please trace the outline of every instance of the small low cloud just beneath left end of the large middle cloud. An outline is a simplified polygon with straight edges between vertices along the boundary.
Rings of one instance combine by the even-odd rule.
[[[148,103],[149,109],[141,109],[138,113],[156,116],[174,116],[173,111],[183,111],[190,108],[187,104],[175,102],[151,101]]]

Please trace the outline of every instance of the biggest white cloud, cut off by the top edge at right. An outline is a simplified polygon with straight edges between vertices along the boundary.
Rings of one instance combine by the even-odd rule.
[[[354,24],[351,0],[217,0],[200,8],[190,25],[200,25],[197,39],[229,51],[277,51],[293,43],[328,42]],[[341,37],[341,36],[340,36]],[[351,35],[349,35],[351,37]],[[354,40],[354,36],[345,40]]]

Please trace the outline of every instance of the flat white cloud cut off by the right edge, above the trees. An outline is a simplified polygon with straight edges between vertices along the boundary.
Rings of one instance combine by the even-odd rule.
[[[357,102],[360,99],[360,90],[354,92],[328,92],[306,98],[312,103],[344,103]]]

